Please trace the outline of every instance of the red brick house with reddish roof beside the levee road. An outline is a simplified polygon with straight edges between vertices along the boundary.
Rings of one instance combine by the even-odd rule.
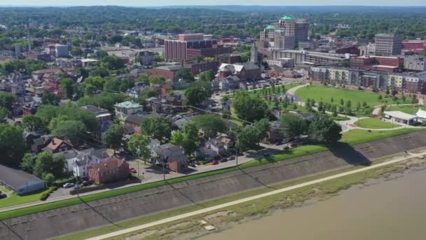
[[[93,180],[97,185],[122,180],[129,176],[129,164],[115,157],[102,159],[99,164],[93,164],[87,169],[89,180]]]

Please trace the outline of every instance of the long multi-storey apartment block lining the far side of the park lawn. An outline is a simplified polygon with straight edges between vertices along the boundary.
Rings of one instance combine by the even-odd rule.
[[[426,72],[396,73],[366,69],[311,67],[309,76],[314,81],[346,86],[362,86],[380,90],[396,89],[404,93],[426,94]]]

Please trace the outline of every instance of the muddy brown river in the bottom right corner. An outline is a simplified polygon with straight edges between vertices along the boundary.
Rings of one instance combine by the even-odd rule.
[[[426,239],[426,170],[370,180],[325,201],[249,220],[213,239]]]

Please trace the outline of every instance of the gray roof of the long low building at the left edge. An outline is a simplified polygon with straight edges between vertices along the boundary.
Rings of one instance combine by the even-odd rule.
[[[7,185],[17,189],[22,187],[29,181],[43,182],[35,175],[29,174],[17,168],[10,168],[0,164],[0,181],[5,182]]]

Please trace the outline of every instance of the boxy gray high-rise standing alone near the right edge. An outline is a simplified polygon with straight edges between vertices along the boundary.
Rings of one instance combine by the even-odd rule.
[[[401,54],[402,36],[399,34],[376,34],[376,53],[378,56]]]

